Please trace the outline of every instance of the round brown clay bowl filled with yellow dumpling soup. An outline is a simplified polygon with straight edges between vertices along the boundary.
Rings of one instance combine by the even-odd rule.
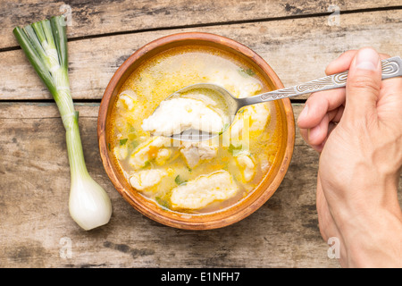
[[[202,82],[235,97],[283,87],[246,46],[213,34],[180,33],[149,43],[121,65],[98,118],[101,157],[121,196],[159,223],[194,230],[238,222],[262,206],[289,167],[295,132],[289,99],[243,107],[212,139],[181,141],[149,131],[177,118],[194,125],[199,114],[218,124],[214,106],[224,103],[202,92],[170,102],[163,120],[152,118],[166,97]]]

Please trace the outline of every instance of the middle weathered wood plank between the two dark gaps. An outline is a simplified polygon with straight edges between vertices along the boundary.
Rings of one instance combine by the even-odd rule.
[[[328,25],[328,17],[322,16],[73,41],[69,43],[71,92],[74,98],[101,98],[113,72],[138,47],[181,31],[205,31],[238,40],[263,56],[284,85],[291,86],[322,77],[325,66],[348,49],[373,46],[400,55],[401,13],[345,14],[340,16],[339,26]],[[0,99],[51,98],[21,50],[0,53],[0,63]]]

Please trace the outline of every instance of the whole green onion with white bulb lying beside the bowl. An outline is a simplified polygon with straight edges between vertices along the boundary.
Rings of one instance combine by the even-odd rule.
[[[105,189],[91,178],[85,164],[79,114],[70,92],[64,17],[55,16],[23,28],[16,27],[13,34],[54,97],[62,117],[71,171],[71,217],[86,231],[104,225],[112,215],[112,204]]]

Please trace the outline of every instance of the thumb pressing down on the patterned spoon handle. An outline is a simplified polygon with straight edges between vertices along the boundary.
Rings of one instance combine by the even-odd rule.
[[[380,89],[380,55],[373,48],[364,47],[356,53],[348,71],[344,116],[353,120],[376,114]]]

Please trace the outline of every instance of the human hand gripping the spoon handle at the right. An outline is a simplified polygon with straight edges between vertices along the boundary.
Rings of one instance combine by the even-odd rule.
[[[339,239],[343,266],[402,266],[402,78],[381,81],[387,57],[371,48],[341,55],[326,72],[349,70],[347,87],[314,93],[297,121],[321,153],[320,231]]]

